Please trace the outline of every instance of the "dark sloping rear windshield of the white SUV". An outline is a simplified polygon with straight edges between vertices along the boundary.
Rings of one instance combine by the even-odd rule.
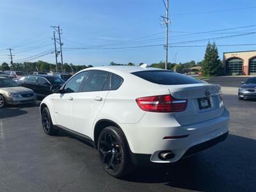
[[[135,76],[141,77],[151,83],[156,84],[194,84],[204,83],[203,81],[194,79],[193,77],[184,76],[177,72],[167,70],[148,70],[133,72]]]

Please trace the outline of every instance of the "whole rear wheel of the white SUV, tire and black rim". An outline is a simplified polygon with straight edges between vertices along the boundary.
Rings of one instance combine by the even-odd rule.
[[[102,166],[109,175],[118,178],[132,172],[129,148],[121,129],[113,126],[102,129],[97,148]]]

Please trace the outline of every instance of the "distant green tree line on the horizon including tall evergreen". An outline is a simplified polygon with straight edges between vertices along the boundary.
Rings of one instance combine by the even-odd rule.
[[[109,65],[127,65],[127,66],[136,66],[135,63],[115,63],[111,61]],[[143,65],[143,63],[138,64]],[[151,63],[150,67],[164,68],[164,61],[160,61],[159,63]],[[167,69],[173,70],[176,72],[186,72],[189,68],[201,66],[202,74],[204,76],[218,76],[223,74],[223,68],[221,67],[221,60],[219,58],[218,49],[215,43],[208,42],[207,47],[205,49],[204,60],[196,63],[195,61],[189,61],[186,63],[168,63]],[[73,65],[72,63],[64,63],[63,71],[64,72],[78,72],[84,68],[93,67],[92,65]],[[36,61],[36,62],[24,62],[24,63],[13,63],[8,65],[8,63],[2,63],[0,65],[0,70],[20,70],[24,72],[56,72],[56,65],[52,63],[47,63],[45,61]],[[58,71],[61,71],[61,63],[58,63]]]

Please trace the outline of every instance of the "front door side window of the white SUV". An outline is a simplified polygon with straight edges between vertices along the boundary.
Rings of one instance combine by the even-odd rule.
[[[84,72],[81,72],[77,74],[76,76],[72,77],[64,87],[65,93],[74,93],[78,92],[79,88],[83,82],[84,79],[88,76],[89,71],[86,70]]]

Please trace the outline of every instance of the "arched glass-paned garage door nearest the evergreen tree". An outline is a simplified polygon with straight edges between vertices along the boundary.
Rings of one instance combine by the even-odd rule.
[[[243,60],[238,58],[233,58],[226,61],[226,73],[232,75],[242,74],[243,70]]]

